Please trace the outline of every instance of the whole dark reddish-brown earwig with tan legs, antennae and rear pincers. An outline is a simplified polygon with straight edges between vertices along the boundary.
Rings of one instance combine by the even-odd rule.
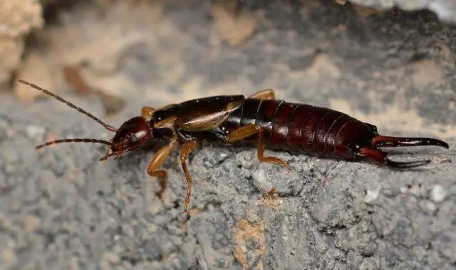
[[[97,121],[115,135],[110,141],[75,138],[53,140],[43,145],[61,142],[93,142],[110,146],[100,158],[121,157],[137,150],[151,140],[164,140],[166,145],[155,152],[147,172],[161,180],[160,197],[165,190],[167,172],[160,170],[170,152],[180,146],[180,162],[187,180],[184,212],[192,195],[192,176],[187,157],[198,145],[210,142],[221,145],[256,145],[260,162],[276,163],[291,170],[278,157],[265,157],[266,147],[294,153],[307,153],[341,160],[368,160],[393,168],[425,165],[430,160],[397,162],[388,159],[378,147],[435,145],[448,148],[442,140],[427,137],[390,137],[379,135],[375,125],[356,120],[345,113],[314,105],[286,103],[276,100],[274,90],[266,89],[244,98],[244,95],[219,95],[188,100],[155,110],[143,107],[141,116],[127,120],[116,129],[103,123],[85,110],[33,83],[19,80],[41,90],[71,108]]]

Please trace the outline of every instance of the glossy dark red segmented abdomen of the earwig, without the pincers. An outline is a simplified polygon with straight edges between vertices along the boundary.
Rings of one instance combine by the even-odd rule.
[[[373,134],[370,126],[345,113],[282,100],[246,99],[223,128],[229,132],[248,124],[264,130],[269,148],[328,157],[351,157],[351,144],[368,143]]]

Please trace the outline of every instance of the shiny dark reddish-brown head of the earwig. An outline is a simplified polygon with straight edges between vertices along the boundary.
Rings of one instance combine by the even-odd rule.
[[[123,123],[113,137],[111,150],[115,153],[125,153],[144,145],[152,137],[151,128],[147,121],[138,116]]]

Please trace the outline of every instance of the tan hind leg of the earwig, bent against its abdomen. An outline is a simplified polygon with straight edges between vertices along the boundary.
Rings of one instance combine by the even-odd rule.
[[[249,137],[256,133],[258,133],[258,160],[260,162],[276,163],[279,165],[283,165],[288,170],[291,170],[290,166],[284,160],[279,159],[279,157],[264,157],[264,148],[266,147],[266,144],[264,142],[263,131],[258,125],[244,125],[243,127],[238,128],[237,130],[234,130],[231,134],[229,134],[227,140],[228,142],[235,142],[237,140],[242,140],[245,137]]]

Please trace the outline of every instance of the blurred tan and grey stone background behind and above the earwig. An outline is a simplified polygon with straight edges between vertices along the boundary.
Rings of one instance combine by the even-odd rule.
[[[355,2],[4,0],[1,91],[42,95],[23,78],[101,98],[113,116],[274,88],[380,128],[454,135],[455,5]]]

